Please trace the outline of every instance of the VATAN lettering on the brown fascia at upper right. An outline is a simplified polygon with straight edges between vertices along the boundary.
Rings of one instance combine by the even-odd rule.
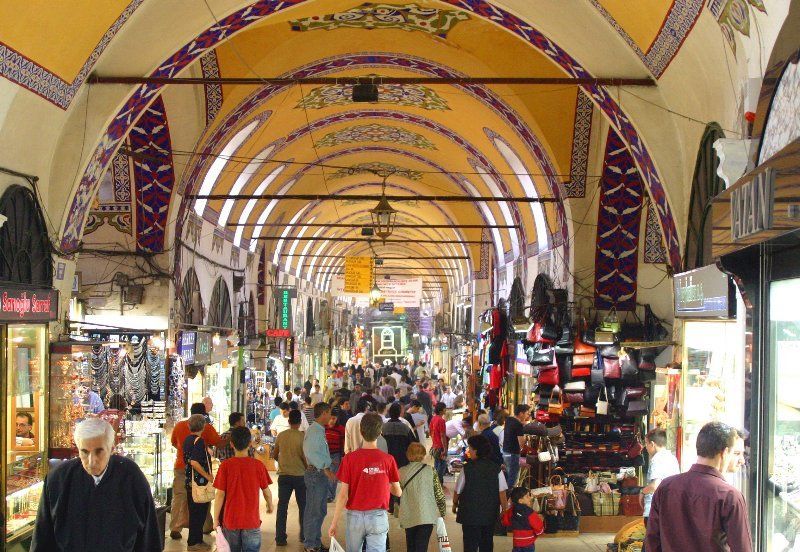
[[[731,239],[739,241],[772,228],[775,171],[768,168],[731,190]]]

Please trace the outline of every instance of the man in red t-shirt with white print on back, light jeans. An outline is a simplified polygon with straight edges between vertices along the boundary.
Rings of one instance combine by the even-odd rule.
[[[364,444],[342,458],[336,474],[342,490],[336,499],[328,534],[336,536],[336,526],[347,509],[347,552],[360,552],[366,541],[367,550],[385,550],[389,533],[389,494],[399,497],[400,475],[397,463],[389,454],[378,450],[378,437],[383,418],[369,412],[361,418]]]

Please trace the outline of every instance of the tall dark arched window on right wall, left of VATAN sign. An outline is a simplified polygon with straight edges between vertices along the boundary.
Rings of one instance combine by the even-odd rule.
[[[689,222],[686,225],[686,247],[683,255],[684,270],[700,268],[712,262],[711,200],[725,189],[725,182],[717,174],[719,157],[714,151],[714,142],[724,137],[722,128],[716,123],[711,123],[706,127],[700,140],[689,199]]]

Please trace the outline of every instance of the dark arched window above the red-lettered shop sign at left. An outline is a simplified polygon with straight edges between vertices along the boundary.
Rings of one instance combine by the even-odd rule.
[[[0,198],[0,281],[50,287],[53,258],[50,238],[33,190],[9,187]]]

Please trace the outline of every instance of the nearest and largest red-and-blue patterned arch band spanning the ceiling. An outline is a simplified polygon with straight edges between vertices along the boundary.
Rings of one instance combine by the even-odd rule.
[[[575,59],[569,56],[559,45],[548,40],[530,24],[522,19],[489,4],[483,0],[450,0],[448,4],[456,5],[467,11],[471,16],[491,21],[505,30],[517,35],[534,46],[567,74],[576,77],[590,76],[588,71]],[[177,75],[198,56],[211,46],[229,38],[235,32],[247,27],[261,18],[282,11],[284,8],[304,4],[301,0],[282,3],[256,2],[255,4],[232,13],[223,18],[218,24],[201,33],[197,39],[187,44],[184,48],[173,54],[156,71],[155,75]],[[678,236],[675,230],[671,209],[666,196],[666,191],[655,169],[653,159],[645,147],[632,121],[624,114],[616,101],[603,88],[598,86],[585,87],[592,100],[600,107],[604,115],[610,120],[612,126],[619,131],[623,140],[631,149],[634,159],[640,169],[644,183],[656,206],[665,235],[665,242],[672,264],[679,262]],[[86,218],[87,206],[94,194],[99,177],[105,170],[112,154],[119,145],[120,140],[127,134],[129,126],[138,118],[141,110],[155,97],[158,87],[141,86],[126,101],[123,108],[114,118],[109,128],[104,133],[99,145],[95,149],[91,161],[84,171],[81,182],[77,185],[71,209],[65,217],[62,230],[62,246],[67,250],[74,250],[80,241],[83,225]]]

